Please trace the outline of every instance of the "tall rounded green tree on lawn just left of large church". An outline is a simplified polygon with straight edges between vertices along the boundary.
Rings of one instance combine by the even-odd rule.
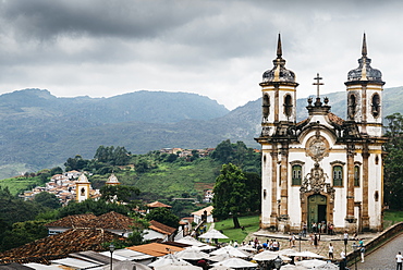
[[[249,189],[246,176],[240,168],[223,164],[220,175],[216,179],[212,198],[212,214],[217,218],[232,216],[234,228],[241,228],[239,216],[248,209]]]

